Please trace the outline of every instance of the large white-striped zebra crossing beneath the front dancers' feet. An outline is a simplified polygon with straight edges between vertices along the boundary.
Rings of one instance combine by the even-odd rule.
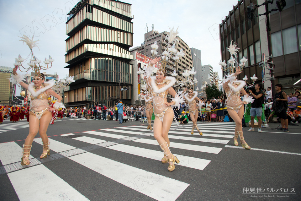
[[[172,172],[174,174],[185,171],[185,168],[203,171],[211,162],[210,157],[219,154],[233,138],[235,124],[198,122],[198,128],[203,133],[202,136],[198,132],[191,135],[191,128],[192,123],[183,125],[172,122],[168,135],[170,147],[172,153],[180,160],[180,163],[176,165],[178,168]],[[63,158],[68,158],[68,160],[92,170],[99,177],[104,176],[113,182],[160,201],[176,200],[189,186],[187,182],[166,177],[160,172],[144,170],[143,166],[138,168],[135,166],[136,160],[124,163],[114,160],[114,157],[97,154],[97,151],[106,149],[123,156],[122,158],[130,156],[142,161],[154,160],[156,164],[161,165],[163,152],[158,148],[158,143],[153,137],[153,130],[147,130],[145,124],[67,133],[50,137],[49,141],[50,156],[40,159],[36,155],[41,153],[32,151],[29,157],[30,165],[25,167],[20,165],[22,147],[19,144],[16,142],[0,144],[2,163],[0,174],[8,175],[20,200],[41,200],[47,192],[49,193],[47,200],[89,200],[87,195],[80,193],[68,181],[59,177],[44,164]],[[33,146],[42,147],[42,140],[34,139]],[[194,154],[187,155],[187,151]],[[204,155],[206,157],[203,157]],[[22,179],[20,179],[21,177]],[[45,186],[45,183],[48,188],[41,189],[40,187]],[[31,193],[24,188],[27,185],[31,186]]]

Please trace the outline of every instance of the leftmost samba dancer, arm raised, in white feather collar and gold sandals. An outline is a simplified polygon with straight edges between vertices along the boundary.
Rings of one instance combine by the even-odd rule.
[[[23,144],[23,156],[21,158],[21,165],[29,165],[29,155],[32,147],[32,142],[34,137],[39,132],[42,142],[43,142],[43,152],[40,158],[46,158],[50,155],[49,149],[49,139],[47,137],[47,128],[52,121],[51,111],[57,110],[59,108],[65,108],[61,104],[62,97],[55,93],[51,87],[55,84],[55,81],[45,82],[45,76],[43,73],[36,74],[33,77],[33,82],[30,84],[24,83],[17,74],[18,66],[15,66],[12,73],[12,78],[18,82],[22,87],[27,89],[30,95],[30,113],[29,113],[29,134],[25,139]],[[53,107],[49,107],[48,97],[52,95],[57,98],[57,102]],[[25,151],[27,149],[28,151]]]

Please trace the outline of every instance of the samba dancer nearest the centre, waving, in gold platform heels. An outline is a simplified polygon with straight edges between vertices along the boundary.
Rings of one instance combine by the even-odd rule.
[[[166,76],[165,69],[160,68],[157,71],[156,76],[150,77],[150,74],[154,69],[153,65],[160,60],[161,58],[156,57],[155,59],[151,60],[147,66],[146,71],[148,72],[148,76],[146,78],[146,84],[150,87],[150,97],[153,100],[155,114],[154,137],[164,152],[164,157],[162,158],[161,162],[167,163],[168,161],[169,166],[167,169],[168,171],[173,171],[175,169],[175,162],[179,163],[180,161],[169,149],[170,142],[168,139],[168,132],[174,117],[174,112],[171,106],[179,106],[179,104],[184,102],[184,100],[183,98],[179,97],[177,92],[172,88],[172,86],[176,83],[176,79],[171,76]],[[170,103],[167,102],[168,94],[174,97]]]

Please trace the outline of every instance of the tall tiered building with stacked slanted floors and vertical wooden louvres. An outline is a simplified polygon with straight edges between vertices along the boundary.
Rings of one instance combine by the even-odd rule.
[[[131,4],[114,0],[80,0],[68,13],[66,63],[74,76],[64,92],[66,106],[131,103],[133,23]],[[122,90],[122,88],[129,90]]]

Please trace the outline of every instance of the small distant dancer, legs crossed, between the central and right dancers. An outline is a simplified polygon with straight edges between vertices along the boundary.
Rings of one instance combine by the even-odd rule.
[[[187,91],[187,88],[184,90],[184,92]],[[188,90],[188,93],[184,95],[184,99],[187,100],[189,105],[189,116],[191,118],[191,121],[193,122],[191,134],[193,135],[193,130],[196,128],[198,130],[198,133],[200,135],[203,135],[203,133],[198,129],[197,121],[198,121],[198,108],[200,108],[202,105],[204,105],[203,101],[199,99],[198,92],[193,91],[192,89]],[[197,104],[196,100],[199,101]]]

